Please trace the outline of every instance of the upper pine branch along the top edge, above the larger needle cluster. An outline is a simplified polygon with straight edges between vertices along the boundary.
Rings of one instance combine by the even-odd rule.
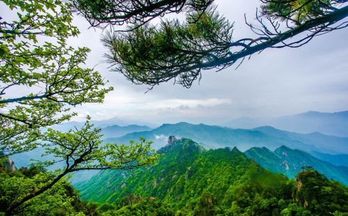
[[[125,23],[141,26],[168,13],[203,12],[214,0],[70,0],[91,26],[105,28]]]

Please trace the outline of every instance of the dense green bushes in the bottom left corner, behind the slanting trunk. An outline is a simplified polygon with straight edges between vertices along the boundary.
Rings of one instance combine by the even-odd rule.
[[[52,180],[53,176],[38,167],[0,172],[0,215],[22,199]],[[13,215],[97,215],[90,203],[80,201],[66,179],[18,208]]]

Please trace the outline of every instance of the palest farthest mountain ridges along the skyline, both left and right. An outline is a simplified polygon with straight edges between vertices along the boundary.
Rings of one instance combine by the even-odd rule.
[[[109,118],[102,121],[91,121],[97,128],[106,128],[112,125],[128,126],[128,125],[144,125],[148,128],[157,128],[159,125],[153,123],[145,123],[141,121]],[[54,125],[53,128],[58,130],[69,130],[77,126],[84,125],[83,122],[70,121],[60,125]],[[326,135],[336,137],[348,137],[348,111],[338,111],[333,113],[325,113],[319,111],[308,111],[301,114],[281,116],[278,118],[237,118],[221,126],[228,128],[253,129],[269,125],[280,130],[287,130],[298,133],[320,132]]]

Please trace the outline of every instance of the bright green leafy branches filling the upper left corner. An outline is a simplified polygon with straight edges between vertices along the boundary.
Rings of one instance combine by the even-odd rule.
[[[11,154],[36,148],[40,128],[69,120],[76,115],[71,106],[102,102],[112,88],[103,87],[99,72],[82,67],[90,49],[66,44],[79,34],[70,3],[3,4],[15,15],[0,20],[0,150]]]

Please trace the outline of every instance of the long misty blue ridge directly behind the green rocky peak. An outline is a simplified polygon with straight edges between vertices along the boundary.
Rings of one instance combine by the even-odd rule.
[[[106,139],[117,143],[127,144],[139,136],[154,141],[155,148],[166,145],[168,136],[187,137],[197,141],[205,148],[221,148],[236,146],[241,151],[252,147],[266,146],[272,151],[280,146],[300,149],[310,153],[348,153],[348,138],[326,136],[324,134],[298,134],[262,127],[253,130],[223,128],[214,125],[194,125],[190,123],[164,124],[147,132],[134,132],[116,139]]]

